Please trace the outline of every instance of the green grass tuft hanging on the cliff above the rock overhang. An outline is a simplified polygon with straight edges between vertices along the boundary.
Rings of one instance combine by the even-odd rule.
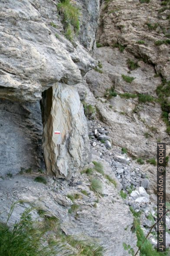
[[[74,34],[77,34],[80,28],[79,17],[80,12],[70,0],[60,0],[57,9],[62,17],[62,24],[65,30],[65,37],[72,41]]]

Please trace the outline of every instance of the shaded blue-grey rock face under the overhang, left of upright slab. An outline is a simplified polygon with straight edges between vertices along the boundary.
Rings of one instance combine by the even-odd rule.
[[[44,168],[39,102],[0,100],[0,176]]]

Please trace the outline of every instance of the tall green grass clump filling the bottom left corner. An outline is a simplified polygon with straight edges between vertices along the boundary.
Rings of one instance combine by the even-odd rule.
[[[16,203],[11,206],[7,222],[0,223],[0,256],[55,256],[62,251],[57,243],[44,246],[43,236],[49,229],[33,221],[31,211],[26,209],[12,227],[8,227]]]

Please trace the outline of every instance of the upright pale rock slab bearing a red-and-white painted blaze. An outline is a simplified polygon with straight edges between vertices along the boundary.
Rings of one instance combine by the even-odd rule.
[[[42,94],[41,105],[47,172],[69,178],[91,159],[88,127],[78,92],[72,86],[56,84]]]

